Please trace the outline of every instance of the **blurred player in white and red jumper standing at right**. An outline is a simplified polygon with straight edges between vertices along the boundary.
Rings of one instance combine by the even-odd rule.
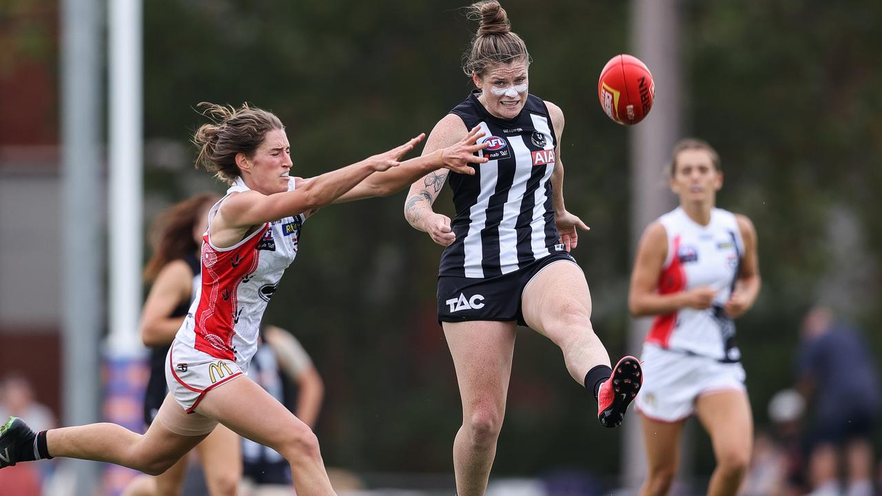
[[[717,462],[707,494],[734,495],[750,462],[753,422],[732,319],[759,294],[757,234],[744,215],[714,207],[722,172],[706,142],[676,144],[669,183],[680,207],[644,231],[628,297],[635,316],[656,316],[637,396],[649,462],[640,494],[668,494],[694,414]]]

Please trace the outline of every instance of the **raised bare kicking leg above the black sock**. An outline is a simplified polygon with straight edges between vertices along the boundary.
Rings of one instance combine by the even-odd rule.
[[[521,296],[527,326],[564,353],[572,379],[581,386],[595,365],[609,366],[609,355],[591,326],[591,293],[576,264],[560,260],[544,267]]]

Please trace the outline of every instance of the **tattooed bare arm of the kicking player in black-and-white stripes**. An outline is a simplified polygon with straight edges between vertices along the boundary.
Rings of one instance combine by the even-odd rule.
[[[447,114],[435,124],[422,154],[431,154],[440,148],[449,147],[467,134],[466,124],[463,124],[462,119],[454,114]],[[448,174],[448,170],[436,170],[418,179],[411,184],[404,203],[404,218],[407,222],[415,229],[429,233],[432,241],[442,246],[452,244],[456,237],[450,228],[450,218],[436,214],[432,210],[432,204],[444,187]]]

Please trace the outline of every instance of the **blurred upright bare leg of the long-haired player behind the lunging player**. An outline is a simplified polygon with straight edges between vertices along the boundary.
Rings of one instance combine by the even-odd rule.
[[[196,452],[206,473],[208,493],[211,496],[235,496],[242,480],[242,441],[238,434],[218,425],[206,440],[199,443]]]

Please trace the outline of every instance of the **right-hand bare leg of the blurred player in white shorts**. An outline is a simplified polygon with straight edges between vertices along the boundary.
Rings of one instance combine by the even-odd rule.
[[[695,414],[711,436],[717,466],[708,496],[735,496],[751,462],[753,418],[744,391],[699,396]]]

